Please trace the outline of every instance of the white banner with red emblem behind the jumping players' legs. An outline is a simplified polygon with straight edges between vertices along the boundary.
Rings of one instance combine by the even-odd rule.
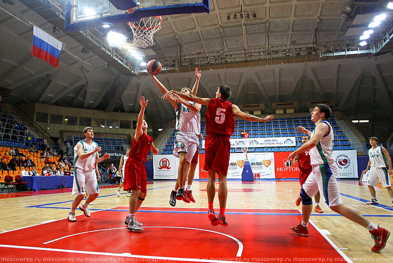
[[[200,156],[200,155],[199,155]],[[179,158],[172,154],[153,155],[154,179],[177,179]],[[195,170],[194,179],[199,178],[199,163]]]

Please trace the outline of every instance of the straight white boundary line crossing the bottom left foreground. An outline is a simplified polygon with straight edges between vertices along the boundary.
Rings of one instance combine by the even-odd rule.
[[[203,260],[203,259],[192,259],[192,258],[188,259],[188,258],[154,257],[154,256],[131,255],[130,253],[119,254],[119,253],[105,253],[105,252],[95,252],[95,251],[78,251],[78,250],[45,248],[45,247],[14,246],[14,245],[3,245],[3,244],[0,244],[0,247],[22,248],[22,249],[32,249],[32,250],[44,250],[44,251],[56,251],[56,252],[76,253],[76,254],[104,255],[104,256],[114,256],[114,257],[142,258],[142,259],[165,260],[165,261],[190,261],[190,262],[206,262],[206,263],[223,263],[223,262],[239,263],[239,261],[222,261],[222,260]],[[254,262],[244,262],[244,263],[254,263]]]

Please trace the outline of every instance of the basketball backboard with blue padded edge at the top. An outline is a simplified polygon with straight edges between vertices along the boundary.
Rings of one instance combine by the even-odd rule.
[[[209,13],[209,0],[72,0],[65,4],[64,29],[75,32],[104,25],[138,21],[142,17]],[[123,8],[124,10],[117,9]],[[125,8],[133,10],[126,11]]]

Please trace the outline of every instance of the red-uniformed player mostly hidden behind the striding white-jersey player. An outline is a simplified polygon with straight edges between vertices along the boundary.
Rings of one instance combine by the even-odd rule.
[[[305,144],[306,142],[309,141],[309,136],[305,135],[302,137],[302,144]],[[299,153],[295,159],[293,160],[293,164],[297,165],[299,163],[299,169],[300,169],[300,175],[299,175],[299,181],[300,185],[303,186],[303,184],[306,182],[307,177],[309,177],[309,174],[312,172],[312,166],[311,166],[311,160],[310,160],[310,152],[309,151],[304,151]],[[315,212],[317,213],[323,213],[323,210],[319,206],[319,200],[320,200],[321,195],[318,193],[315,194]],[[296,205],[299,206],[300,203],[302,202],[302,198],[299,196],[298,199],[296,200]]]

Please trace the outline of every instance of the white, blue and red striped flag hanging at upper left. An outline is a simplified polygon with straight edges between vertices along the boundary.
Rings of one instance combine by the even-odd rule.
[[[31,54],[58,67],[62,43],[42,29],[33,29],[33,47]]]

